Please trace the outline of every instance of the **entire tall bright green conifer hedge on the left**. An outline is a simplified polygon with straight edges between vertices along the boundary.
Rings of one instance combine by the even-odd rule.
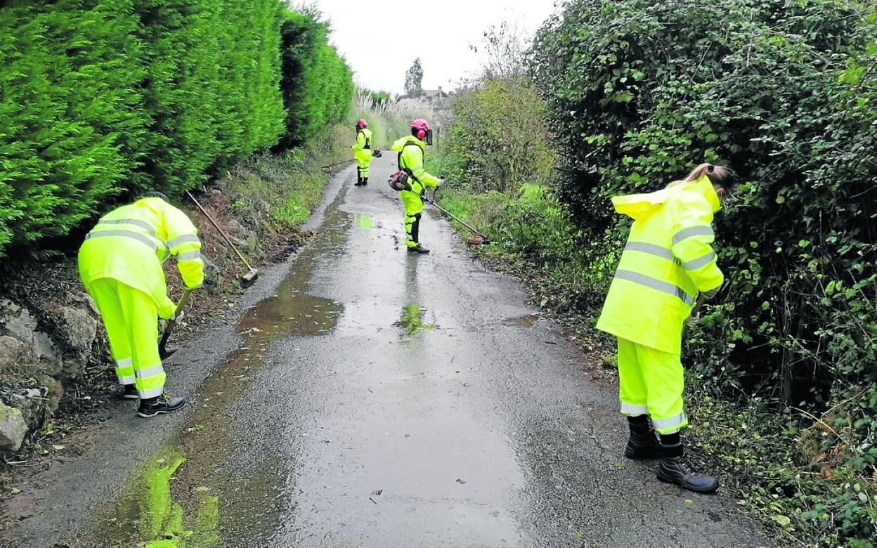
[[[349,93],[334,89],[351,89],[350,71],[327,44],[324,24],[284,15],[284,6],[2,4],[0,255],[10,246],[37,251],[46,246],[39,240],[75,233],[108,203],[144,189],[178,196],[275,146],[284,118],[284,142],[297,144],[343,117]],[[299,49],[284,35],[284,83],[298,92],[289,102],[281,25],[294,20],[310,34]],[[286,78],[296,64],[307,76]],[[326,74],[334,77],[329,87]]]

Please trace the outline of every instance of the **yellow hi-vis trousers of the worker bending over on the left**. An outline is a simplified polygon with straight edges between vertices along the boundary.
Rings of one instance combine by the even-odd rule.
[[[101,313],[119,383],[133,384],[141,398],[160,396],[166,375],[153,297],[112,278],[98,278],[85,288]]]

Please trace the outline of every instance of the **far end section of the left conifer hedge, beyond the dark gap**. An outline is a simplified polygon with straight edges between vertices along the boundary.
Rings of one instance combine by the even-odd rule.
[[[329,26],[310,13],[287,12],[282,25],[284,148],[301,146],[341,120],[353,98],[353,74],[328,36]]]

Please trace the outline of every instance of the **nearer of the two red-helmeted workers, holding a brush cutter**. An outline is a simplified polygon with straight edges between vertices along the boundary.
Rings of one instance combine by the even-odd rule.
[[[445,181],[426,172],[424,146],[432,144],[430,125],[423,118],[411,122],[411,134],[393,143],[399,153],[399,171],[410,177],[410,190],[400,190],[399,197],[405,208],[405,246],[409,253],[430,253],[420,245],[420,217],[424,210],[423,195],[428,188],[441,186]]]

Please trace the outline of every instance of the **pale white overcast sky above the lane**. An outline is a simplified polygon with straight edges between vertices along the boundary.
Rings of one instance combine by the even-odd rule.
[[[503,20],[535,32],[553,12],[554,0],[315,0],[332,22],[338,46],[355,79],[369,89],[401,93],[415,58],[424,67],[424,89],[453,89],[474,73],[478,45],[490,25]],[[417,37],[420,37],[419,39]]]

